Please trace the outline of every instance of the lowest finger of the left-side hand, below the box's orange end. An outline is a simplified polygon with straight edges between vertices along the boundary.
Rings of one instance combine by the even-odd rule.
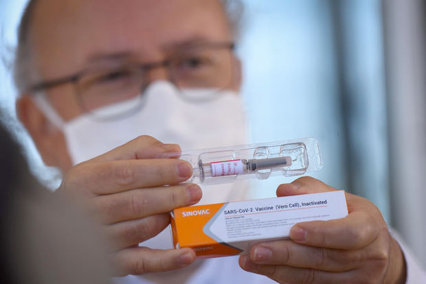
[[[113,263],[117,266],[120,276],[175,270],[190,265],[194,260],[195,252],[190,248],[179,250],[126,248],[113,256]]]

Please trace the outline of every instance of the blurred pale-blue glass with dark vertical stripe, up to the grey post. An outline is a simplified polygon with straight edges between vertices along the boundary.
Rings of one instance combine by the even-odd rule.
[[[244,2],[252,141],[316,137],[324,167],[309,175],[372,200],[390,221],[381,1]],[[262,180],[256,197],[293,179]]]

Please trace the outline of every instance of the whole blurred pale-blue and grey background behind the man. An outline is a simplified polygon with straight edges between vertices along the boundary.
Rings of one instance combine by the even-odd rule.
[[[0,0],[0,107],[34,174],[54,188],[16,122],[10,62],[26,0]],[[311,174],[368,198],[426,267],[426,2],[243,0],[238,43],[251,142],[316,137]],[[278,184],[258,182],[256,198]]]

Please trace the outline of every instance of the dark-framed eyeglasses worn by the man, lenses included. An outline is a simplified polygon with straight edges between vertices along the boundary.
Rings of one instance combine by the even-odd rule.
[[[204,102],[217,97],[235,77],[234,43],[208,43],[179,49],[161,62],[138,64],[120,62],[102,69],[87,69],[57,80],[41,82],[32,93],[61,84],[74,84],[82,110],[99,119],[111,119],[133,113],[144,104],[144,90],[150,84],[148,71],[166,68],[168,80],[179,89],[183,99]],[[114,113],[103,111],[121,103]]]

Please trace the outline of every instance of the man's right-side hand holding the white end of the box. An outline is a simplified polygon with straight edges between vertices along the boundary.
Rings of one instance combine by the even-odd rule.
[[[280,185],[278,196],[333,191],[303,177]],[[372,202],[346,193],[349,215],[295,224],[289,240],[270,241],[240,257],[240,266],[278,283],[405,283],[405,261]]]

